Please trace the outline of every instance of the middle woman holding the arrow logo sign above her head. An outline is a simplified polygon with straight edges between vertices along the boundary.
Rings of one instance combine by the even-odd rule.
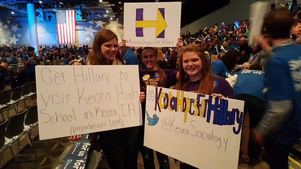
[[[176,70],[162,70],[160,66],[157,64],[159,59],[157,49],[146,47],[142,50],[142,62],[145,69],[139,70],[140,76],[140,89],[142,94],[146,92],[146,86],[157,86],[157,87],[167,87],[169,88],[172,85],[175,85],[178,78],[178,71]],[[142,103],[142,117],[145,119],[145,98],[140,100]],[[147,113],[147,112],[146,112]],[[154,164],[154,150],[150,149],[146,146],[143,146],[143,138],[144,138],[144,123],[140,127],[140,139],[141,139],[141,146],[140,151],[143,157],[143,163],[145,169],[155,169]],[[168,156],[156,151],[157,159],[160,165],[160,169],[169,169],[169,161]]]

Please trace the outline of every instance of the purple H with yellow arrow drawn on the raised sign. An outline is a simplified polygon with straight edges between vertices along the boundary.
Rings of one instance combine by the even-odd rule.
[[[136,37],[143,37],[143,28],[156,28],[156,38],[164,38],[167,24],[164,19],[164,8],[157,10],[156,21],[143,21],[143,8],[136,9]]]

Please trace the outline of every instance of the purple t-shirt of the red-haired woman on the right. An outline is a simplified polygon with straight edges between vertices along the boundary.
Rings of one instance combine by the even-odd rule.
[[[196,93],[199,83],[200,80],[195,82],[186,81],[187,91]],[[219,76],[213,76],[213,85],[214,85],[213,93],[222,94],[225,97],[236,99],[232,87],[224,78]]]

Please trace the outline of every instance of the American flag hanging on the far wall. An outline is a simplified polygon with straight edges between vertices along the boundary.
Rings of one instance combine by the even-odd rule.
[[[56,11],[55,16],[58,43],[75,43],[75,11]]]

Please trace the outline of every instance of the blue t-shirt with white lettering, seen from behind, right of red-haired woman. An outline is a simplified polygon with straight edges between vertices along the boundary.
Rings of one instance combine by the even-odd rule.
[[[237,83],[233,87],[236,95],[249,94],[265,100],[263,94],[264,73],[259,70],[242,70],[236,73]]]

